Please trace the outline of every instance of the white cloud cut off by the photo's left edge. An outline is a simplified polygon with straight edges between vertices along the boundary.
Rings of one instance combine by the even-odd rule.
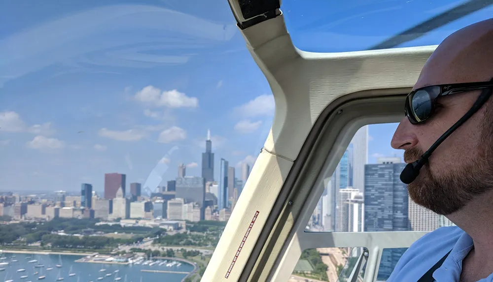
[[[29,132],[36,135],[51,135],[55,133],[51,123],[27,126],[20,115],[13,111],[0,112],[0,131]]]

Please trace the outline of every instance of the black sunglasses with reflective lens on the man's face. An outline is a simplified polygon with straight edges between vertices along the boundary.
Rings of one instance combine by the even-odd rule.
[[[433,115],[436,98],[449,94],[487,89],[493,87],[493,81],[467,82],[426,86],[413,90],[406,97],[404,111],[413,125],[426,121]]]

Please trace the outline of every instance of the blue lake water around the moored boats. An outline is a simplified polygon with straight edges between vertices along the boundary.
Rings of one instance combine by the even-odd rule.
[[[74,262],[83,256],[77,255],[61,255],[62,267],[58,268],[55,265],[59,263],[59,256],[55,254],[22,254],[22,253],[4,253],[7,259],[1,260],[1,262],[9,262],[9,265],[0,266],[5,267],[4,271],[0,272],[0,282],[6,280],[13,280],[13,282],[55,282],[59,272],[60,276],[64,278],[63,282],[115,282],[115,270],[118,270],[118,277],[122,279],[118,282],[124,282],[125,275],[127,275],[127,282],[180,282],[186,274],[178,273],[150,273],[142,272],[142,269],[148,270],[164,270],[164,271],[181,271],[190,272],[193,270],[193,266],[187,263],[181,263],[180,266],[167,267],[166,264],[159,266],[155,264],[149,265],[121,265],[121,264],[103,264],[103,263],[90,263],[90,262]],[[15,257],[12,257],[14,256]],[[12,259],[17,259],[17,262],[12,262]],[[38,262],[29,263],[29,260],[37,259]],[[44,267],[35,268],[36,264],[44,264]],[[53,267],[52,270],[46,270],[49,267]],[[72,273],[75,276],[69,277],[70,267],[72,267]],[[18,269],[26,269],[24,272],[17,272]],[[102,268],[106,269],[106,272],[100,272]],[[34,275],[37,271],[39,274]],[[106,277],[106,273],[112,275]],[[27,275],[27,278],[21,279],[21,276]],[[45,275],[44,280],[38,280],[37,277]],[[98,277],[104,277],[103,280],[98,280]],[[3,279],[3,280],[2,280]]]

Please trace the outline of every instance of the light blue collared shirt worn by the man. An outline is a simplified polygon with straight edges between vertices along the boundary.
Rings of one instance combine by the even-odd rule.
[[[416,240],[404,252],[387,282],[417,282],[450,250],[433,278],[435,282],[459,282],[462,260],[473,246],[472,238],[459,227],[438,228]],[[477,282],[493,282],[493,274]]]

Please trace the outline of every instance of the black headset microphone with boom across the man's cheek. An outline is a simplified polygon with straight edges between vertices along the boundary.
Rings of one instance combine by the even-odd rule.
[[[433,145],[431,145],[428,151],[426,151],[423,154],[423,156],[420,157],[420,159],[418,159],[415,162],[408,163],[406,167],[404,167],[404,169],[400,174],[400,180],[404,184],[410,184],[411,182],[413,182],[418,177],[418,175],[420,175],[420,170],[423,167],[423,165],[428,161],[428,158],[431,156],[431,153],[433,153],[433,151],[435,151],[436,148],[438,148],[438,146],[440,146],[440,144],[442,144],[442,142],[445,141],[445,139],[447,139],[447,137],[449,137],[450,134],[452,134],[452,132],[454,132],[460,125],[465,123],[475,112],[477,112],[481,108],[481,106],[483,106],[483,104],[488,100],[491,94],[492,94],[491,88],[483,90],[483,92],[479,95],[476,102],[474,102],[474,105],[472,105],[469,111],[467,111],[467,113],[465,113],[465,115],[463,115],[457,121],[457,123],[452,125],[447,131],[445,131],[445,133],[443,133],[443,135],[440,136],[440,138],[438,138],[435,141],[435,143],[433,143]]]

